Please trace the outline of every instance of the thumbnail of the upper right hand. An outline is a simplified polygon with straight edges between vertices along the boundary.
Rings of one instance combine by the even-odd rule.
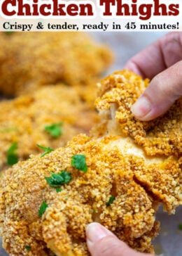
[[[132,113],[135,117],[145,117],[152,109],[151,102],[148,101],[148,98],[141,96],[134,105],[132,105]]]

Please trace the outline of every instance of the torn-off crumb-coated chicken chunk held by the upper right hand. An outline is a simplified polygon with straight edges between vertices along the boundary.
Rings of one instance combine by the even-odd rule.
[[[148,82],[128,70],[114,72],[99,84],[97,109],[110,111],[111,108],[111,115],[120,124],[123,134],[131,136],[147,155],[179,157],[182,153],[182,97],[165,115],[150,122],[137,120],[130,110]]]

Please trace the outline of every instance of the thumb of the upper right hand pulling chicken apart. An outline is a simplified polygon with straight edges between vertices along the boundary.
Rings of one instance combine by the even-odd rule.
[[[182,60],[156,75],[144,94],[132,106],[139,120],[153,120],[164,114],[182,95]]]

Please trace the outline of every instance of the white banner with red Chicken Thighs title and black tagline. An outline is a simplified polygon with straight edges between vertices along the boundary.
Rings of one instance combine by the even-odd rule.
[[[182,31],[181,0],[1,0],[1,31]]]

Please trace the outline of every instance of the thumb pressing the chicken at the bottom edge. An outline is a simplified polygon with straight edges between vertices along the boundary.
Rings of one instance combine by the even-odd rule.
[[[132,250],[99,223],[89,224],[86,236],[92,256],[153,256]]]

